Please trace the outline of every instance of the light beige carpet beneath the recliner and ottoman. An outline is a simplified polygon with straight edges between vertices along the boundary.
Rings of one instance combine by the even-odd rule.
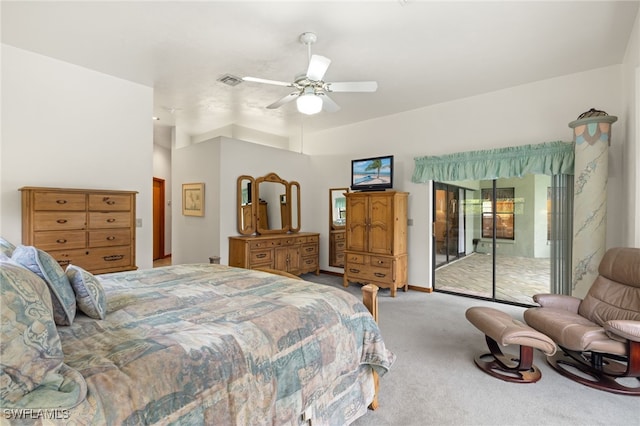
[[[303,278],[343,288],[340,277]],[[357,284],[347,291],[361,297]],[[397,360],[380,379],[380,408],[355,426],[639,424],[639,398],[573,382],[549,367],[539,351],[537,383],[508,383],[482,372],[473,358],[488,351],[482,333],[465,318],[471,306],[491,306],[520,320],[524,311],[445,293],[398,292],[391,298],[389,290],[381,290],[380,329]]]

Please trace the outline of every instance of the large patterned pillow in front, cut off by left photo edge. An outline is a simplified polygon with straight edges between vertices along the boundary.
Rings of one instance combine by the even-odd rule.
[[[63,364],[47,284],[12,260],[0,261],[0,407],[70,409],[87,395],[78,371]]]

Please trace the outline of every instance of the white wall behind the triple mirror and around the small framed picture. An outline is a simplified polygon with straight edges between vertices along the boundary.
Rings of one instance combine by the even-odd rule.
[[[236,185],[241,175],[259,177],[274,172],[282,179],[301,186],[302,231],[317,232],[316,195],[311,161],[306,155],[227,137],[216,137],[196,144],[174,144],[173,244],[172,263],[208,262],[220,256],[228,264],[229,237],[238,235],[236,226]],[[183,183],[205,183],[205,216],[182,215]]]

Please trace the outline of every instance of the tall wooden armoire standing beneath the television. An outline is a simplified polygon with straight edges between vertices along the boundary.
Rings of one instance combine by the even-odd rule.
[[[344,286],[349,281],[407,291],[407,198],[397,191],[347,197]]]

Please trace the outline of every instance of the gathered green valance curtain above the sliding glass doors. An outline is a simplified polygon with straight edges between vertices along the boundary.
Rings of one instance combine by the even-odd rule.
[[[526,174],[573,174],[573,142],[545,142],[483,151],[416,157],[412,182],[484,180]]]

